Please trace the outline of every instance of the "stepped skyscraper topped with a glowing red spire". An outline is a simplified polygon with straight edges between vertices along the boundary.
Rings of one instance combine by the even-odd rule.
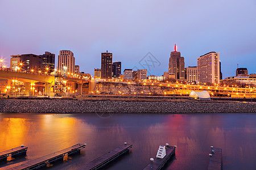
[[[175,74],[175,79],[185,79],[185,62],[184,57],[180,57],[180,52],[177,52],[177,46],[174,45],[174,52],[171,52],[169,58],[168,72]]]

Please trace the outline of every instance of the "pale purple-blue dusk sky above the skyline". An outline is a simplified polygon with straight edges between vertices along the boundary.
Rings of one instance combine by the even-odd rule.
[[[113,53],[122,71],[151,52],[162,75],[174,43],[185,67],[210,51],[220,53],[224,78],[237,63],[256,73],[256,1],[13,1],[0,0],[0,56],[71,50],[80,71],[94,74],[101,52]]]

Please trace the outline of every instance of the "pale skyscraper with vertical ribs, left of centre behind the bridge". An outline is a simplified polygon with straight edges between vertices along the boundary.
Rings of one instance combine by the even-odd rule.
[[[58,70],[62,74],[75,73],[75,57],[70,50],[61,50],[58,56]]]

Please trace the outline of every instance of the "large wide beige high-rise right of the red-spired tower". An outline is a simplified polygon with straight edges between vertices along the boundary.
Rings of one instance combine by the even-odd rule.
[[[220,53],[209,52],[197,58],[200,83],[220,83]]]

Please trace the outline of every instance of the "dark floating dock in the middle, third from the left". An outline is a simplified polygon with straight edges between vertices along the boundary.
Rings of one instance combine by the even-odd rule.
[[[120,155],[125,154],[133,145],[125,143],[112,151],[100,156],[97,159],[94,159],[92,162],[84,165],[80,169],[99,169],[104,167],[106,164],[112,162],[112,160],[118,158]]]

